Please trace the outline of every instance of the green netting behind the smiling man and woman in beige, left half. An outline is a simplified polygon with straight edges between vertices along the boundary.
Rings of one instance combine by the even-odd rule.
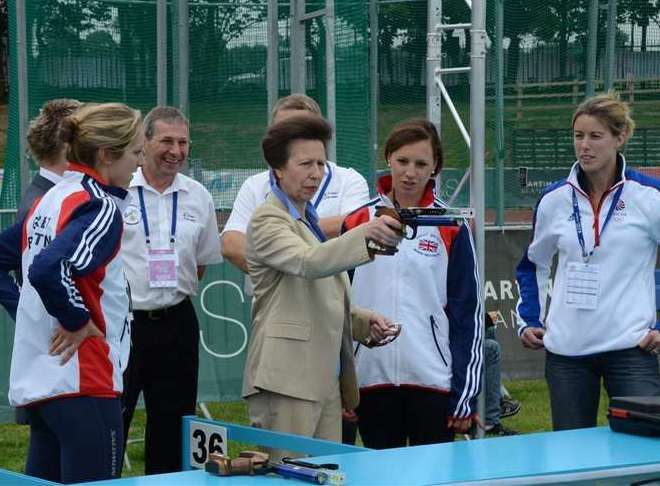
[[[25,4],[29,118],[46,100],[58,97],[123,101],[145,113],[156,104],[155,0],[27,0]],[[310,3],[308,9],[324,6]],[[342,165],[369,176],[369,118],[363,116],[369,111],[366,5],[340,1],[336,10],[337,154]],[[15,29],[13,4],[11,13]],[[180,52],[179,2],[167,7],[167,100],[180,105],[180,60],[187,56],[190,173],[211,191],[216,207],[225,211],[245,178],[265,168],[259,142],[269,118],[266,14],[266,0],[190,1],[189,48]],[[279,5],[278,16],[278,94],[283,96],[290,93],[291,75],[288,2]],[[307,93],[327,113],[325,29],[322,18],[306,22]],[[5,208],[15,207],[19,196],[15,87],[13,82],[2,191]]]

